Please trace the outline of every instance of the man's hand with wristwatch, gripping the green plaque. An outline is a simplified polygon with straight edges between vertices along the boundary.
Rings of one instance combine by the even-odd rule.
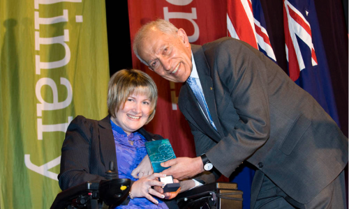
[[[166,162],[161,162],[161,166],[170,167],[161,173],[172,175],[173,178],[177,178],[179,180],[191,178],[204,171],[204,165],[201,157],[177,157]]]

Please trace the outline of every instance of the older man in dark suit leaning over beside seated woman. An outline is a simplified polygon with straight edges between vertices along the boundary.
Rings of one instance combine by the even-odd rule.
[[[183,29],[165,20],[144,25],[133,50],[161,77],[184,83],[179,109],[200,156],[165,162],[171,168],[164,173],[228,177],[246,160],[258,168],[251,208],[346,208],[348,139],[258,50],[232,38],[191,45]]]

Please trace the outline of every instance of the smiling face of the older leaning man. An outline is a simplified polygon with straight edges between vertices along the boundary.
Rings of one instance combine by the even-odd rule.
[[[138,48],[151,70],[171,82],[185,82],[191,75],[191,45],[183,29],[172,36],[151,29]]]

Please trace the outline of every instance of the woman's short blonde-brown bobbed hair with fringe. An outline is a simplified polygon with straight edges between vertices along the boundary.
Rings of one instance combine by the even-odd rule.
[[[124,108],[127,98],[133,94],[146,95],[149,98],[151,103],[151,114],[147,120],[147,123],[149,123],[155,115],[156,102],[158,101],[158,89],[153,79],[141,70],[124,69],[112,75],[108,84],[108,113],[115,118],[117,111]]]

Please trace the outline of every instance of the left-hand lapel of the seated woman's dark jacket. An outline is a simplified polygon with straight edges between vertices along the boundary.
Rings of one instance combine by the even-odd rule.
[[[112,134],[112,125],[110,116],[98,121],[99,141],[101,144],[101,153],[105,170],[109,170],[109,162],[114,162],[114,169],[117,171],[117,150],[115,149],[114,136]]]

